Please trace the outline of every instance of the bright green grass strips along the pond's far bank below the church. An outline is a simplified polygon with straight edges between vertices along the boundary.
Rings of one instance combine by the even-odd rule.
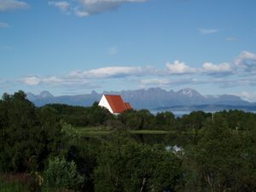
[[[93,137],[93,136],[108,136],[113,133],[113,130],[106,127],[76,127],[75,128],[79,134],[83,137]],[[161,131],[161,130],[131,130],[131,134],[144,134],[144,135],[162,135],[168,134],[172,131]]]

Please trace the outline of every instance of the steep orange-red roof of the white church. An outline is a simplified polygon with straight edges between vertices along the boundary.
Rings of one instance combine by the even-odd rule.
[[[124,102],[121,96],[113,96],[113,95],[105,95],[112,108],[113,113],[122,113],[127,109],[131,109],[131,105],[129,102]]]

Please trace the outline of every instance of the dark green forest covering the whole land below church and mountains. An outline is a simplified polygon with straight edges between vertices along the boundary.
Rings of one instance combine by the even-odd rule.
[[[89,127],[108,136],[82,137]],[[170,131],[172,145],[131,130]],[[23,91],[0,100],[0,192],[253,192],[256,114],[240,110],[182,117],[91,107],[37,108]]]

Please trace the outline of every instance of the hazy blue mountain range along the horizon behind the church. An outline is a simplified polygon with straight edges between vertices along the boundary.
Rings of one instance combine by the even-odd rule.
[[[189,88],[178,91],[149,88],[148,90],[104,91],[103,93],[93,90],[90,94],[76,96],[53,96],[49,91],[44,90],[39,95],[27,93],[26,96],[38,107],[49,103],[86,107],[91,106],[93,102],[99,102],[102,94],[121,95],[125,102],[130,102],[136,109],[146,108],[156,111],[242,109],[256,111],[256,103],[244,101],[239,96],[202,96],[198,91]]]

